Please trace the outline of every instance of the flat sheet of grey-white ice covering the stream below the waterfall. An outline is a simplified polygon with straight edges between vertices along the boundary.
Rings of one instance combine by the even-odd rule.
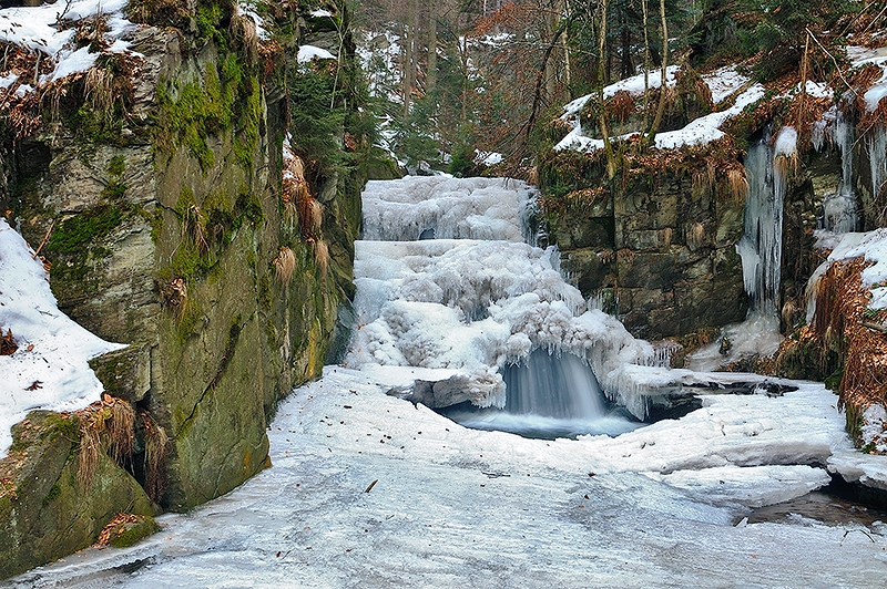
[[[163,516],[136,547],[86,550],[18,586],[876,587],[887,575],[883,527],[735,524],[743,505],[823,484],[806,464],[849,447],[820,385],[548,442],[386,396],[404,370],[379,386],[384,372],[328,368],[281,405],[272,468]]]

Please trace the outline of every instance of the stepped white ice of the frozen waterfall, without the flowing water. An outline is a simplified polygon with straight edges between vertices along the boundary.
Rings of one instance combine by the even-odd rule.
[[[608,396],[643,418],[643,376],[626,366],[653,364],[655,352],[614,318],[588,309],[552,264],[553,248],[523,241],[532,237],[534,194],[502,178],[369,183],[355,260],[359,329],[347,365],[473,375],[488,383],[475,404],[506,407],[503,369],[526,364],[536,350],[573,354]],[[417,240],[428,232],[435,239]],[[574,417],[601,416],[592,413]]]

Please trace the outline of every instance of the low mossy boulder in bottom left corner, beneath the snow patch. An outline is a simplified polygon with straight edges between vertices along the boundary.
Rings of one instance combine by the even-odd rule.
[[[154,514],[139,483],[108,456],[79,482],[78,427],[75,416],[51,412],[13,427],[0,461],[0,578],[90,546],[119,512]]]

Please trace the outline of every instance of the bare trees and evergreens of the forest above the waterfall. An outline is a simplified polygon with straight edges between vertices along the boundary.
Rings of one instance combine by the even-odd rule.
[[[849,39],[877,43],[887,25],[865,0],[361,0],[355,12],[388,147],[408,169],[455,174],[498,154],[512,173],[531,166],[551,143],[540,122],[644,70],[735,63],[762,82],[827,82]],[[648,136],[662,99],[645,96]]]

